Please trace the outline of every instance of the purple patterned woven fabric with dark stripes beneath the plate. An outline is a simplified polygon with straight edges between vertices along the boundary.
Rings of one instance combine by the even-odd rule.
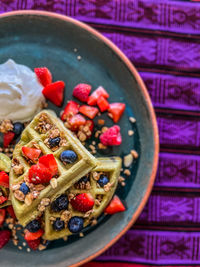
[[[54,11],[112,40],[140,71],[160,131],[152,195],[98,261],[200,266],[200,4],[172,0],[0,0],[0,12]]]

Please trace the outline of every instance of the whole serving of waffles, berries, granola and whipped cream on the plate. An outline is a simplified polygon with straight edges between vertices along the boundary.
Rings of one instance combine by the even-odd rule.
[[[102,86],[91,93],[90,84],[80,83],[72,93],[79,102],[69,99],[59,119],[44,109],[45,99],[60,107],[64,88],[47,67],[33,72],[13,60],[0,65],[0,248],[10,237],[18,245],[20,229],[32,250],[42,250],[50,240],[82,236],[99,217],[126,209],[115,191],[125,186],[120,172],[130,176],[138,154],[131,150],[122,169],[122,159],[105,152],[122,144],[116,123],[125,104],[110,104]],[[115,124],[107,127],[102,113]],[[95,158],[102,150],[106,157]]]

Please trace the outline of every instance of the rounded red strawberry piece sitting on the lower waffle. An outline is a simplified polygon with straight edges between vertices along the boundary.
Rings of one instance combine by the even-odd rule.
[[[94,198],[90,193],[82,193],[71,199],[71,205],[75,210],[87,212],[94,206]]]

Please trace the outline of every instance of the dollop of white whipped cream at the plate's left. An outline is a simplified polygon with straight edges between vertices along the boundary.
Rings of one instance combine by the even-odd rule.
[[[43,86],[27,66],[9,59],[0,64],[0,121],[30,121],[42,109]]]

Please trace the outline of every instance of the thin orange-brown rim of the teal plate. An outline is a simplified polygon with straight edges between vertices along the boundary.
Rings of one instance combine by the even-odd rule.
[[[9,12],[5,12],[5,13],[0,14],[0,19],[4,18],[4,17],[16,16],[16,15],[38,15],[38,16],[46,16],[46,17],[56,18],[56,19],[59,19],[62,21],[66,21],[66,22],[70,22],[72,24],[75,24],[76,26],[83,28],[84,30],[91,33],[93,36],[100,39],[104,44],[106,44],[122,60],[122,62],[126,65],[126,67],[131,72],[131,74],[134,76],[137,84],[139,85],[141,93],[145,99],[145,104],[147,106],[147,109],[148,109],[148,112],[150,115],[150,122],[152,124],[152,130],[153,130],[153,136],[154,136],[154,156],[153,156],[153,165],[152,165],[152,171],[151,171],[148,187],[147,187],[147,190],[143,196],[143,199],[140,202],[136,212],[133,214],[131,220],[126,225],[126,227],[124,227],[124,229],[120,233],[118,233],[115,238],[110,240],[110,242],[107,243],[104,248],[99,249],[97,252],[93,253],[89,257],[71,265],[71,267],[78,267],[78,266],[85,264],[85,263],[91,261],[92,259],[98,257],[104,251],[106,251],[108,248],[110,248],[114,243],[116,243],[130,229],[130,227],[134,224],[134,222],[137,220],[140,213],[142,212],[142,210],[143,210],[143,208],[144,208],[144,206],[145,206],[145,204],[146,204],[146,202],[150,196],[150,193],[152,191],[155,177],[156,177],[157,168],[158,168],[159,133],[158,133],[156,114],[155,114],[155,111],[154,111],[154,108],[153,108],[153,105],[151,102],[151,98],[150,98],[149,93],[147,91],[147,88],[146,88],[142,78],[140,77],[140,74],[138,73],[135,66],[133,65],[133,63],[127,58],[127,56],[112,41],[110,41],[107,37],[103,36],[100,32],[98,32],[97,30],[95,30],[91,26],[89,26],[86,23],[81,22],[77,19],[74,19],[74,18],[69,17],[67,15],[62,15],[62,14],[49,12],[49,11],[30,10],[30,9],[28,9],[28,10],[15,10],[15,11],[9,11]]]

